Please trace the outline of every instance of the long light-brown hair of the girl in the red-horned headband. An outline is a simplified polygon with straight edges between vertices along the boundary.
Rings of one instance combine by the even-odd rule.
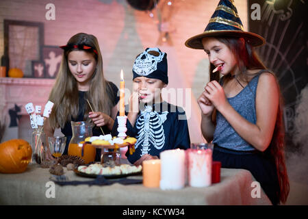
[[[94,111],[111,115],[113,101],[112,88],[110,87],[110,83],[107,83],[103,74],[103,58],[97,38],[91,34],[79,33],[72,36],[67,44],[84,44],[92,47],[92,49],[88,51],[84,50],[87,53],[91,53],[97,61],[96,70],[91,78],[90,88],[86,93],[86,99],[90,101]],[[55,103],[51,115],[49,116],[49,125],[51,125],[53,129],[58,127],[63,128],[65,123],[70,121],[72,117],[77,118],[78,116],[79,102],[77,81],[68,68],[68,53],[75,50],[80,49],[70,48],[64,50],[60,70],[55,79],[55,85],[49,94],[49,100]],[[90,122],[90,118],[88,118],[89,112],[90,107],[86,104],[84,120],[88,122]]]

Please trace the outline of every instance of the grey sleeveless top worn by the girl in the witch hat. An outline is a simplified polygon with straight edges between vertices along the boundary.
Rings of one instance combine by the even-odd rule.
[[[249,81],[247,86],[243,88],[236,96],[227,98],[230,105],[243,116],[250,123],[255,124],[257,121],[255,111],[255,97],[257,93],[257,85],[259,76],[263,72],[269,70],[261,70],[259,73]],[[220,81],[222,84],[222,80]],[[235,151],[255,151],[255,147],[246,142],[238,133],[231,127],[229,122],[220,114],[216,112],[216,129],[214,131],[215,144],[223,148],[232,149]]]

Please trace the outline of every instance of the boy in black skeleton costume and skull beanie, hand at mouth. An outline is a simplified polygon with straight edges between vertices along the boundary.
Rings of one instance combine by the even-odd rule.
[[[158,159],[165,150],[190,147],[184,110],[162,100],[162,88],[168,84],[166,56],[158,48],[147,48],[133,64],[133,94],[126,110],[127,136],[137,138],[136,151],[126,154],[131,164]],[[117,120],[114,135],[116,127]]]

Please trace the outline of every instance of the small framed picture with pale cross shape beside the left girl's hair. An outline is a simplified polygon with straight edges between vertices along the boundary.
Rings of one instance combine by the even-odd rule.
[[[63,50],[57,46],[44,46],[42,48],[42,62],[44,62],[44,75],[46,78],[55,78],[60,69]]]

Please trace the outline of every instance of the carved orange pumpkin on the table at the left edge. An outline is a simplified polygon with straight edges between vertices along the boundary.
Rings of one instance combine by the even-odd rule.
[[[30,144],[22,139],[12,139],[0,144],[0,172],[19,173],[27,169],[31,161]]]

